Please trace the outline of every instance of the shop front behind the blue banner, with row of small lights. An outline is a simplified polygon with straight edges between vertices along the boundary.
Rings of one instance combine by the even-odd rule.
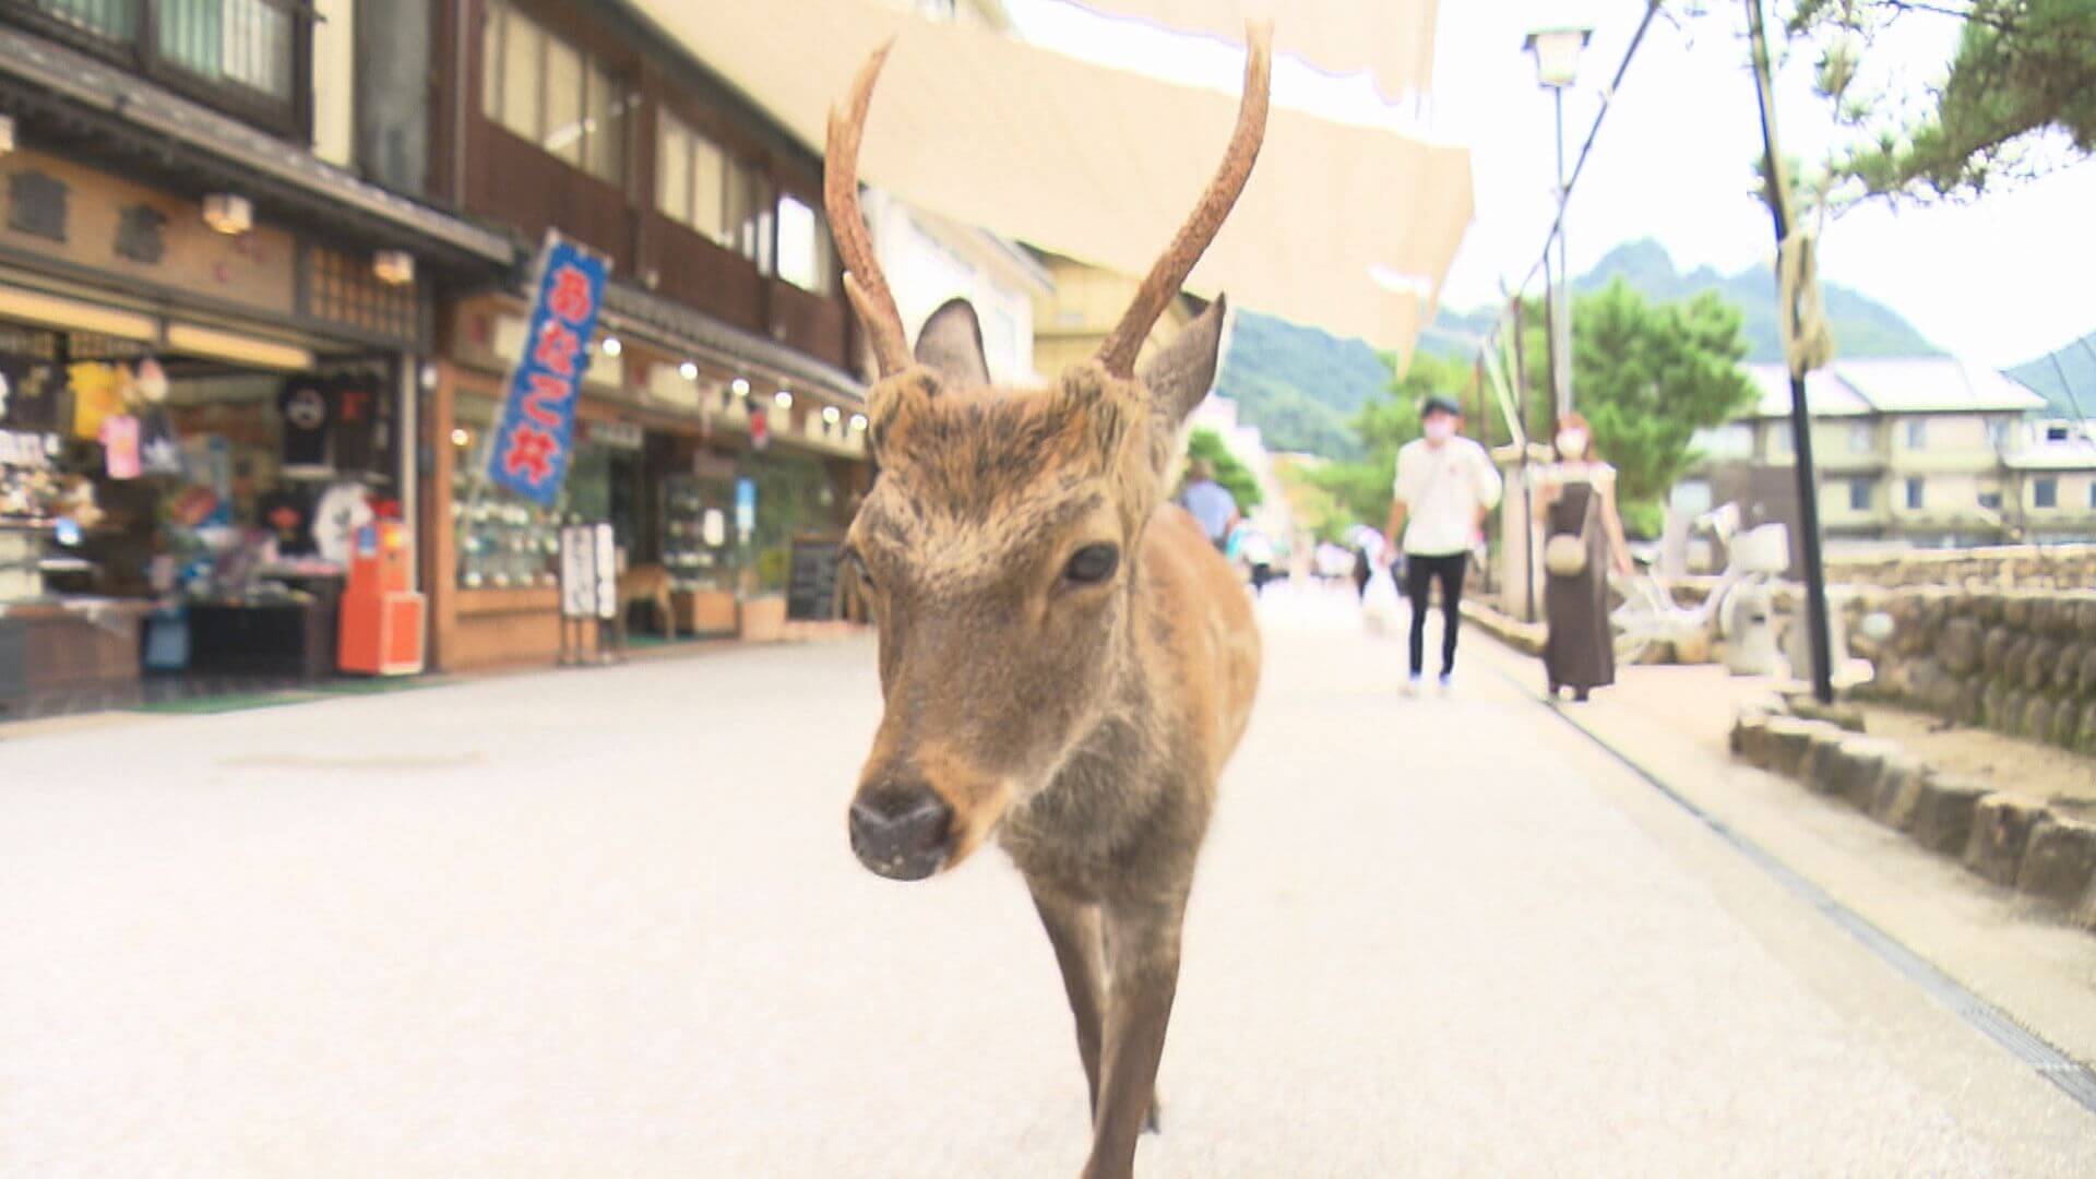
[[[784,619],[792,541],[843,535],[870,483],[847,378],[809,388],[612,319],[591,346],[566,483],[541,508],[482,478],[522,302],[470,300],[446,327],[423,510],[444,669],[558,657],[560,529],[585,522],[612,524],[633,642],[761,638]]]

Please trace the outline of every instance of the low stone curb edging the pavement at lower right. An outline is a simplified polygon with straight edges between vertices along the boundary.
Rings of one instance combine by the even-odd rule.
[[[2096,822],[2058,814],[2046,801],[1995,791],[1977,778],[1930,770],[1893,741],[1847,728],[1842,711],[1796,715],[1792,701],[1740,707],[1731,753],[1840,799],[1882,827],[1905,833],[1972,875],[2058,904],[2096,931]]]

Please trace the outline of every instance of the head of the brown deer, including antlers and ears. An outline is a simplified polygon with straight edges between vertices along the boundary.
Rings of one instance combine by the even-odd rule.
[[[851,803],[878,875],[922,879],[979,848],[1109,713],[1140,707],[1132,602],[1180,424],[1207,394],[1216,300],[1138,376],[1136,352],[1243,191],[1266,130],[1268,29],[1251,31],[1222,168],[1098,355],[1046,390],[991,388],[964,300],[903,344],[859,214],[859,132],[887,48],[830,111],[824,197],[872,342],[880,478],[847,539],[880,636],[885,713]]]

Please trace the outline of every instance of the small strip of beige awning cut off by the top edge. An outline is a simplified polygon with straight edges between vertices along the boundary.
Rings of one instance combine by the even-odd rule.
[[[1247,19],[1274,21],[1274,52],[1325,73],[1371,73],[1388,99],[1434,88],[1434,15],[1440,0],[1077,0],[1113,17],[1136,17],[1228,42]]]

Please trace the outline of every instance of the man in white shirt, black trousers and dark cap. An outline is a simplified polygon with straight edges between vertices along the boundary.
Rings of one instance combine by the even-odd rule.
[[[1419,694],[1425,669],[1427,590],[1442,590],[1442,690],[1455,676],[1455,636],[1461,621],[1463,573],[1469,552],[1484,531],[1484,516],[1499,506],[1499,472],[1492,455],[1463,436],[1463,407],[1434,394],[1419,407],[1425,438],[1398,451],[1398,476],[1390,501],[1390,535],[1402,535],[1404,596],[1413,604],[1413,663],[1406,694]]]

